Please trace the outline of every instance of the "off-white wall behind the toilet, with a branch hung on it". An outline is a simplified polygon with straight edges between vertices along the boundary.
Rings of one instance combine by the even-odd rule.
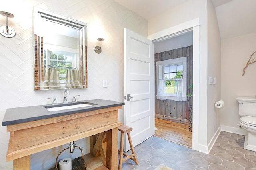
[[[221,126],[225,131],[246,134],[238,127],[239,112],[236,97],[256,95],[256,63],[245,67],[250,55],[256,51],[256,33],[222,39],[221,41],[221,98],[225,102],[221,110]],[[252,57],[255,59],[256,55]]]

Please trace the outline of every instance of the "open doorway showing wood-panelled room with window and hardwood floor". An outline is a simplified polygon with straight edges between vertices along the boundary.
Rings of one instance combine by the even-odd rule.
[[[186,68],[182,68],[180,71],[177,71],[177,63],[165,66],[164,69],[169,68],[169,70],[165,69],[161,72],[157,70],[160,68],[155,67],[155,136],[192,148],[191,107],[193,98],[188,94],[192,94],[191,86],[193,85],[193,31],[186,31],[168,39],[154,42],[154,56],[155,65],[157,65],[157,62],[164,63],[164,61],[167,62],[182,57],[186,57],[187,61]],[[172,68],[176,68],[176,72]],[[184,72],[184,70],[186,71],[186,74],[184,74],[186,82],[183,81],[183,90],[186,100],[179,101],[173,100],[171,97],[168,98],[168,94],[172,96],[173,93],[176,93],[174,92],[174,89],[178,88],[176,81],[178,78],[182,78],[182,71]],[[165,80],[169,79],[164,84],[167,99],[156,97],[159,93],[158,87],[160,87],[157,74],[163,74],[162,78]]]

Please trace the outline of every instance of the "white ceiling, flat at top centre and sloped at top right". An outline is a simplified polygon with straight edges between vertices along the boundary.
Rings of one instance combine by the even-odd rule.
[[[115,0],[122,6],[150,19],[188,0]],[[256,0],[212,0],[221,39],[256,32]]]

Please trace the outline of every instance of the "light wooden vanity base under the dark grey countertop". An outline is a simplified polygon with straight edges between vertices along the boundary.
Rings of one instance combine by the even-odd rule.
[[[14,170],[30,170],[31,154],[106,132],[106,168],[117,170],[118,126],[122,125],[118,109],[122,106],[7,125],[10,140],[6,160],[14,160]]]

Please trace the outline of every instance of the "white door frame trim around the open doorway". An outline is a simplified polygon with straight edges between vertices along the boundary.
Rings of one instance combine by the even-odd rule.
[[[200,18],[148,35],[153,43],[193,30],[193,133],[192,149],[199,150]]]

